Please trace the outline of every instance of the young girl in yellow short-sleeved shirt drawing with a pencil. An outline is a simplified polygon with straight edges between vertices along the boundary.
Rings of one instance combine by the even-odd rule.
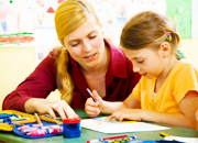
[[[176,58],[179,36],[165,16],[146,11],[133,16],[123,28],[121,46],[133,63],[133,72],[142,75],[140,82],[123,102],[101,100],[100,107],[89,99],[89,114],[112,113],[119,121],[153,121],[196,129],[198,109],[198,70],[186,59]],[[141,108],[141,109],[140,109]]]

